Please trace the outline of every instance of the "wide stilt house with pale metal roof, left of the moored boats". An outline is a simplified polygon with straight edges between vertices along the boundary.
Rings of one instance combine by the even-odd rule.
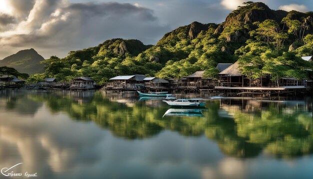
[[[143,79],[145,77],[142,74],[115,76],[109,79],[110,82],[106,84],[106,89],[141,89],[144,87]]]

